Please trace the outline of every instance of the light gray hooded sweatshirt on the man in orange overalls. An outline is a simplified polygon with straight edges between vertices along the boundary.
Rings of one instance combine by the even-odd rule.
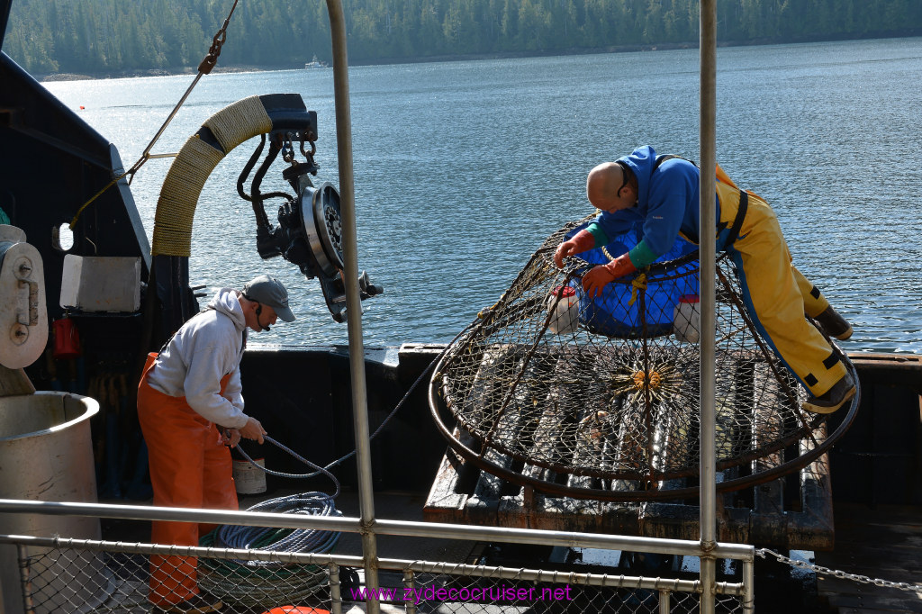
[[[207,309],[187,321],[160,351],[148,374],[154,390],[185,396],[202,418],[231,429],[242,428],[248,419],[240,384],[246,321],[237,297],[235,289],[219,289]],[[221,395],[221,378],[228,373],[231,379]]]

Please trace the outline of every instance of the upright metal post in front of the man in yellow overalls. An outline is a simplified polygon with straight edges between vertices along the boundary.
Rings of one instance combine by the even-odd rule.
[[[701,608],[715,610],[716,560],[710,555],[716,536],[715,482],[715,216],[716,194],[716,0],[701,2],[700,147],[701,147]]]

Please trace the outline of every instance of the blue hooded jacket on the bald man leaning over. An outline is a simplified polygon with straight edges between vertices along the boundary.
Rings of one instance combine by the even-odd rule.
[[[673,158],[654,171],[656,150],[648,145],[634,149],[619,161],[627,164],[637,178],[637,204],[613,213],[600,213],[588,229],[596,236],[596,244],[604,245],[640,222],[643,240],[630,253],[633,265],[640,268],[666,254],[680,232],[698,242],[701,218],[698,167],[686,159]],[[598,230],[604,233],[604,242],[600,241],[603,238],[598,236]]]

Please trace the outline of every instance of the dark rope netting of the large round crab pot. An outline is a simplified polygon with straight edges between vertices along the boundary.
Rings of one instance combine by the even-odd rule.
[[[521,475],[558,485],[585,476],[578,482],[602,490],[668,489],[668,480],[699,471],[700,347],[689,302],[698,292],[697,252],[680,240],[668,261],[646,272],[645,285],[617,279],[590,300],[583,273],[629,249],[636,236],[558,269],[554,251],[585,223],[553,233],[447,348],[431,380],[442,399],[433,405],[456,420],[449,443],[491,464],[511,457],[502,466]],[[800,409],[805,393],[743,305],[734,266],[721,256],[715,447],[718,470],[731,477],[752,477],[764,466],[758,459],[786,448],[796,455],[824,419]]]

